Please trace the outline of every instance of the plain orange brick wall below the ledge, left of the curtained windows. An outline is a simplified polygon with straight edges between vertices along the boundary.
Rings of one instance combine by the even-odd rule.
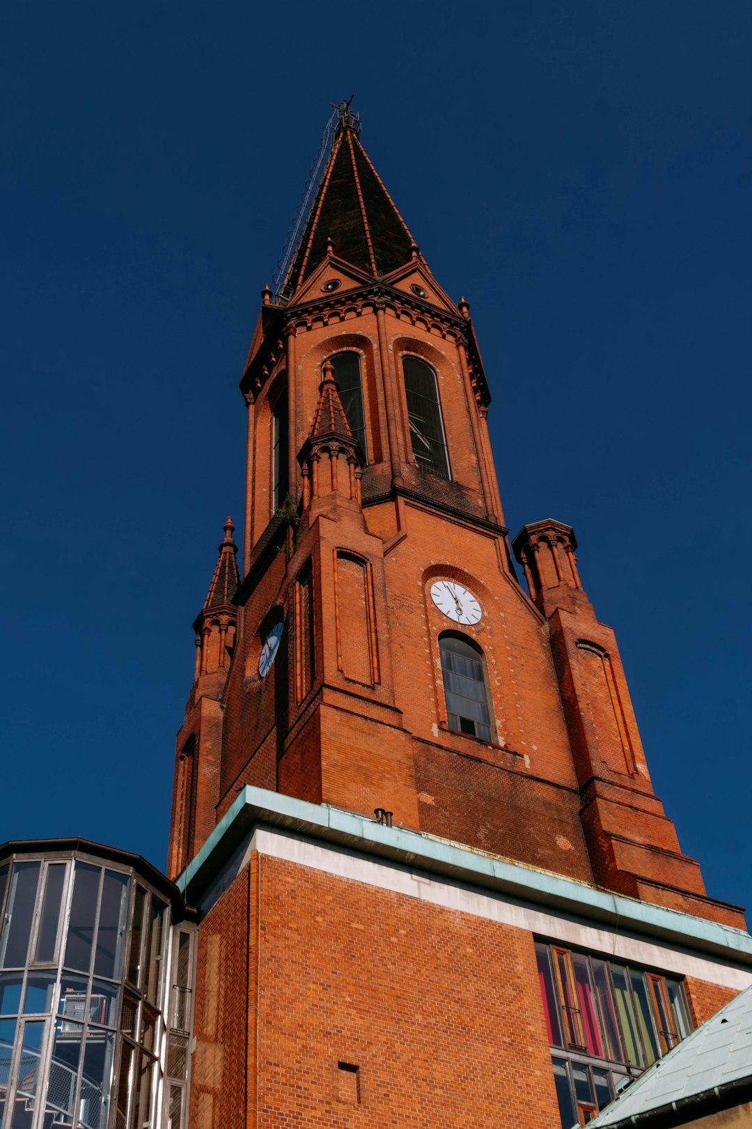
[[[557,1129],[530,935],[267,856],[259,912],[259,1129]]]

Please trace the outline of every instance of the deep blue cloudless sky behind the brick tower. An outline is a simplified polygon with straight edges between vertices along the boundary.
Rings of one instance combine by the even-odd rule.
[[[471,301],[507,524],[575,526],[656,793],[752,904],[751,58],[746,0],[0,3],[0,839],[163,865],[258,295],[354,90]]]

